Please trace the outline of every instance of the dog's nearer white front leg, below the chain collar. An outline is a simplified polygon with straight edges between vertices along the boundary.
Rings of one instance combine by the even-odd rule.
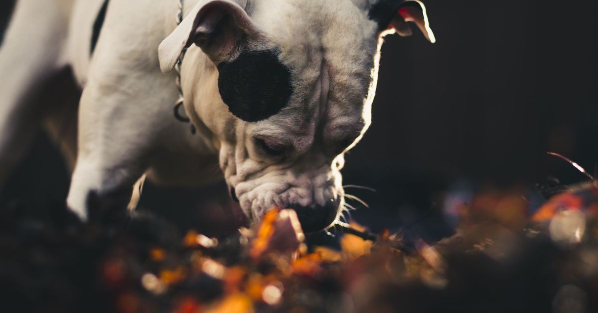
[[[105,74],[91,77],[81,96],[67,204],[83,220],[126,213],[133,184],[163,149],[164,128],[176,122],[169,105],[176,98],[172,77],[146,73],[147,80],[135,81],[139,76],[133,73],[116,84]]]

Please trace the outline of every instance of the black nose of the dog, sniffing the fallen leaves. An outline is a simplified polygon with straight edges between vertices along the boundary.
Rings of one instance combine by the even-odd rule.
[[[330,199],[325,205],[303,206],[290,204],[297,212],[301,228],[306,233],[319,232],[330,226],[338,214],[338,200]]]

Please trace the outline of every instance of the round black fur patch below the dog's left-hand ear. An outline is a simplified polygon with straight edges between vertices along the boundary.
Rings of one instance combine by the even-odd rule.
[[[244,121],[279,113],[291,98],[291,71],[275,51],[243,51],[218,65],[218,89],[228,110]]]

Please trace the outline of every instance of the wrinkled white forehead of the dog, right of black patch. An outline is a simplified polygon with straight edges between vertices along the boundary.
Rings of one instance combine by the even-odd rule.
[[[292,95],[278,118],[294,118],[297,129],[306,129],[314,115],[322,115],[322,92],[327,92],[329,115],[355,116],[362,110],[372,79],[377,25],[358,2],[254,2],[255,25],[291,72]]]

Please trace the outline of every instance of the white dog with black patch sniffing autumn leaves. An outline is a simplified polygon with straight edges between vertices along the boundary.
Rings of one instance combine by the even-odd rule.
[[[343,207],[344,153],[370,126],[382,37],[415,22],[435,41],[423,4],[186,0],[180,25],[178,11],[178,0],[18,1],[0,50],[0,181],[44,120],[76,158],[67,204],[83,219],[91,193],[130,196],[143,174],[224,174],[250,218],[277,205],[306,231],[328,227]],[[196,135],[173,117],[176,75],[164,74],[185,48]],[[47,93],[65,71],[83,89],[78,108]],[[78,133],[60,132],[77,110]]]

